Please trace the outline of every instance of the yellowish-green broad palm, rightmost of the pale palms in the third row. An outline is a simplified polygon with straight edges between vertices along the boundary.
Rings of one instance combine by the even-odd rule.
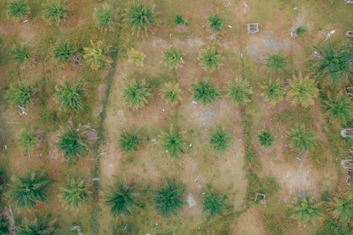
[[[314,103],[314,98],[318,96],[318,88],[316,81],[310,79],[309,76],[302,78],[301,73],[299,76],[293,76],[293,80],[289,81],[289,91],[287,97],[292,100],[292,104],[300,104],[306,108]]]

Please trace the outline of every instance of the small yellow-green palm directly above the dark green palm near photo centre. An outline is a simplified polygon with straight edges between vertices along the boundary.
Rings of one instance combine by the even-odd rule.
[[[213,72],[217,68],[220,68],[220,62],[222,59],[223,56],[215,45],[208,47],[198,54],[198,61],[205,71]]]

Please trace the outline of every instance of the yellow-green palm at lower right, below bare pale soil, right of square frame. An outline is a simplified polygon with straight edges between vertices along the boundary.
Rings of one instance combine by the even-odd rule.
[[[292,218],[297,219],[299,224],[305,226],[321,217],[322,212],[319,207],[322,203],[314,203],[311,197],[306,197],[301,201],[297,199],[297,202],[297,205],[291,205],[290,207],[293,210]]]

